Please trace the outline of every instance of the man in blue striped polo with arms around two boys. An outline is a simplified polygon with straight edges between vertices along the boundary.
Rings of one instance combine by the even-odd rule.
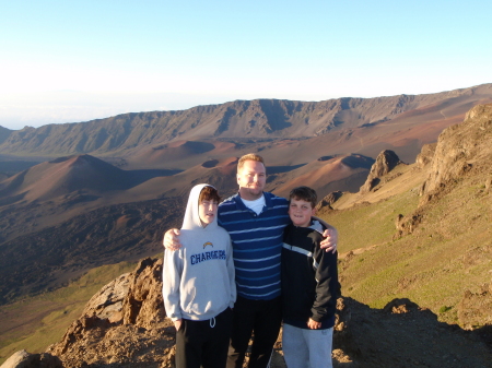
[[[219,225],[233,242],[237,286],[227,368],[243,367],[251,334],[248,367],[267,368],[282,319],[280,260],[283,230],[290,224],[289,201],[263,192],[267,171],[256,154],[239,158],[237,183],[238,193],[219,205]],[[337,247],[338,235],[327,227],[320,246],[330,251]],[[178,249],[178,235],[177,229],[167,230],[164,247]]]

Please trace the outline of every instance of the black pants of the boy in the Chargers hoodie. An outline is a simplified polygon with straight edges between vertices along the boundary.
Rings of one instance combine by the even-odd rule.
[[[176,368],[225,367],[232,320],[230,308],[211,320],[183,319],[176,332]]]

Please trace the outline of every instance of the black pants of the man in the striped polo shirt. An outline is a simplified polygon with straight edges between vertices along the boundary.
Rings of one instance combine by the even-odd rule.
[[[280,297],[272,300],[250,300],[237,297],[234,305],[227,368],[243,367],[251,334],[254,334],[254,340],[248,368],[269,367],[273,344],[279,337],[281,321]]]

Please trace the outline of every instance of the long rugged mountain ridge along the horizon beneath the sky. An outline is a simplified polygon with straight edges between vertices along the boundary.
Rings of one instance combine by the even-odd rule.
[[[425,95],[347,97],[318,103],[235,100],[179,111],[124,114],[87,122],[24,128],[11,131],[3,142],[0,140],[0,153],[126,156],[174,140],[300,139],[374,127],[405,130],[437,121],[441,131],[462,120],[473,105],[487,102],[492,102],[492,84]]]

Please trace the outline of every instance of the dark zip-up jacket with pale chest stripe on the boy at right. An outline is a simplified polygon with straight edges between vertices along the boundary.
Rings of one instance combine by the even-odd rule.
[[[315,229],[316,228],[316,229]],[[289,225],[282,248],[282,297],[285,323],[307,329],[312,318],[321,329],[335,324],[338,282],[337,252],[319,247],[325,228],[314,222],[311,227]]]

